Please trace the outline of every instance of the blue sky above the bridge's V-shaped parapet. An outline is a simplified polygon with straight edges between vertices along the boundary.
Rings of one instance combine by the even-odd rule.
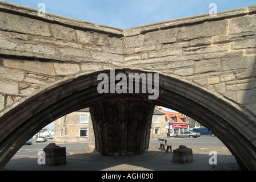
[[[255,0],[12,0],[7,2],[34,9],[40,9],[38,4],[44,3],[48,13],[117,28],[130,28],[209,13],[210,3],[217,5],[218,12],[256,4]]]

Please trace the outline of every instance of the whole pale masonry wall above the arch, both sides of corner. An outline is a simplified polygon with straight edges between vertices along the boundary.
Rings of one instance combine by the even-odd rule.
[[[255,6],[126,30],[38,18],[36,10],[6,2],[0,10],[2,111],[67,77],[138,68],[191,81],[256,113]]]

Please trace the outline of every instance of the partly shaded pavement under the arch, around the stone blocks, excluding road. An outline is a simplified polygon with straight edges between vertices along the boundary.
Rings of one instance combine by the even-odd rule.
[[[173,150],[179,146],[173,146]],[[173,153],[159,150],[158,145],[150,145],[143,155],[101,156],[87,150],[72,151],[66,155],[66,164],[59,166],[39,165],[39,156],[13,158],[3,171],[237,171],[238,165],[226,147],[187,146],[193,150],[193,162],[173,162]],[[215,162],[210,164],[217,152]],[[213,159],[213,158],[211,158]]]

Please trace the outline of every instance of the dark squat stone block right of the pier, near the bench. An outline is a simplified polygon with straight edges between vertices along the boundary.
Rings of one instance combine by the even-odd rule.
[[[179,148],[173,150],[173,162],[189,163],[193,162],[193,152],[191,148],[186,146],[179,146]]]

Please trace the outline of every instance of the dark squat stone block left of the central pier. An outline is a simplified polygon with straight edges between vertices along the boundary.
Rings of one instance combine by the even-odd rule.
[[[66,147],[59,147],[55,143],[50,143],[45,148],[45,164],[49,166],[57,166],[66,164]]]

